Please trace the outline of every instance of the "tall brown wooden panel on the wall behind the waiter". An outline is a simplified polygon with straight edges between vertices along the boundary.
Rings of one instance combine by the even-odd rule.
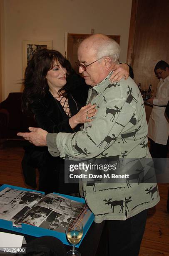
[[[133,0],[127,63],[142,89],[152,84],[156,91],[154,67],[160,60],[169,63],[169,0]],[[151,110],[146,106],[147,120]]]

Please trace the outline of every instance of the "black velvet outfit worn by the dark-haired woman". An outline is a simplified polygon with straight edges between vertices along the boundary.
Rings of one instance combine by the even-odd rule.
[[[67,83],[70,89],[68,104],[71,115],[75,115],[87,100],[88,88],[84,79],[79,75],[73,75]],[[80,102],[80,103],[79,103]],[[55,100],[47,91],[43,99],[32,104],[37,126],[49,133],[74,133],[80,131],[80,125],[72,129],[69,117],[63,110],[60,102]],[[25,147],[25,155],[22,159],[22,169],[26,184],[36,187],[35,167],[40,171],[39,190],[47,192],[72,193],[78,191],[76,184],[64,184],[64,160],[53,157],[46,147],[37,147],[32,144]]]

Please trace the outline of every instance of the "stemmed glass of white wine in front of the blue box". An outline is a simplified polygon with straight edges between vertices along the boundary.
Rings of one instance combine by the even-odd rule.
[[[80,221],[71,221],[66,227],[66,236],[69,242],[73,244],[73,248],[67,252],[67,256],[81,256],[80,252],[75,250],[75,245],[80,242],[83,236],[83,224]]]

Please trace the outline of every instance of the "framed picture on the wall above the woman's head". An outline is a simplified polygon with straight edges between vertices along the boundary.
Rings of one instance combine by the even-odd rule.
[[[22,75],[24,78],[25,68],[32,55],[41,49],[52,49],[52,41],[29,41],[22,42]]]

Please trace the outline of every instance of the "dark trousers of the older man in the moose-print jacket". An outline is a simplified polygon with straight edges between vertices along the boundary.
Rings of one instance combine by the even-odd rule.
[[[107,220],[109,256],[138,256],[147,210],[127,220]]]

